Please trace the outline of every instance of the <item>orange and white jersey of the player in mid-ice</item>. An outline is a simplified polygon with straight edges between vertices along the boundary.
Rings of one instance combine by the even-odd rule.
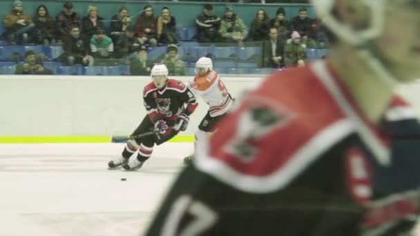
[[[210,70],[202,77],[196,75],[190,90],[195,96],[202,97],[209,104],[211,117],[225,114],[233,104],[220,75],[214,70]]]

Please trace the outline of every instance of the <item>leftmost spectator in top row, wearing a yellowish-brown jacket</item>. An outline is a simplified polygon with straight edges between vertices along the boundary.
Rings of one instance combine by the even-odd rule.
[[[6,14],[3,20],[9,43],[26,44],[30,41],[35,24],[28,14],[23,12],[22,2],[15,0],[12,3],[12,11]]]

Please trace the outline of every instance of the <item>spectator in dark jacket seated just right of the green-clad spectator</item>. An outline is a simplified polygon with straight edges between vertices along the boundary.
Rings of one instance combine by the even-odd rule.
[[[135,37],[135,32],[133,27],[129,26],[126,28],[124,35],[118,37],[115,41],[115,58],[130,57],[133,52],[137,52],[137,49],[140,47],[140,41]]]

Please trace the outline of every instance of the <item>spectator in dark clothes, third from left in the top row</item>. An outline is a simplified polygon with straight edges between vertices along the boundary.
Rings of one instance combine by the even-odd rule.
[[[57,38],[59,43],[65,42],[68,38],[68,32],[71,31],[73,25],[82,26],[80,16],[73,10],[73,3],[66,1],[63,10],[55,17],[55,29],[57,30]]]

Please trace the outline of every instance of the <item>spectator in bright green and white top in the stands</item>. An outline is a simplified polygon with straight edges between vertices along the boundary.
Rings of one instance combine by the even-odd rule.
[[[90,39],[90,52],[94,58],[110,58],[114,52],[113,40],[105,35],[105,30],[99,28]]]

